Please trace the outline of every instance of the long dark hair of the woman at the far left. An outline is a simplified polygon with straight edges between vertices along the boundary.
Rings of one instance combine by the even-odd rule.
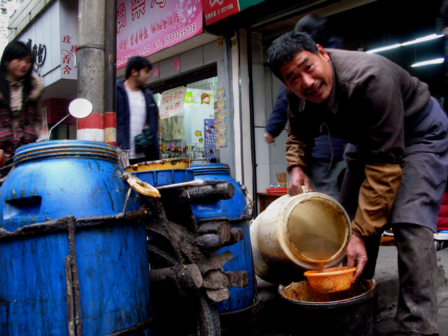
[[[6,79],[6,75],[8,74],[8,64],[17,59],[21,59],[23,57],[32,56],[30,48],[23,42],[20,41],[12,41],[8,43],[3,51],[2,60],[0,61],[0,92],[3,93],[3,96],[10,102],[10,90],[9,83]],[[25,99],[31,91],[31,71],[23,76],[23,99]]]

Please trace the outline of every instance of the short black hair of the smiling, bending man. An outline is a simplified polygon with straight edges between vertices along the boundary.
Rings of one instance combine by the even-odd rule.
[[[276,38],[267,52],[269,54],[267,63],[274,75],[283,80],[280,67],[285,62],[291,61],[301,51],[309,51],[319,54],[316,42],[305,32],[290,31]]]

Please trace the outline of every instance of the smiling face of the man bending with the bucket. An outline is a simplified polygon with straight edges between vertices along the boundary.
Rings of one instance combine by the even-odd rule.
[[[333,73],[326,51],[317,45],[318,54],[301,51],[280,67],[283,83],[302,99],[316,104],[327,100],[333,84]]]

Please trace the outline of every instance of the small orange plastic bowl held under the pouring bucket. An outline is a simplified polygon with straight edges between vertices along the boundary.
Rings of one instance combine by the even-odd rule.
[[[311,288],[318,293],[332,293],[345,291],[352,285],[356,267],[324,268],[322,273],[318,269],[303,273],[308,278]]]

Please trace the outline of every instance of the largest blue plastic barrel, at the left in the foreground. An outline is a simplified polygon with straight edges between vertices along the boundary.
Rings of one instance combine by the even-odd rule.
[[[94,141],[25,145],[0,189],[0,227],[9,232],[57,219],[120,214],[128,185],[117,151]],[[126,212],[141,203],[136,192]],[[120,216],[118,216],[120,218]],[[77,223],[78,224],[78,223]],[[149,318],[145,225],[113,219],[74,235],[83,336],[130,328]],[[73,253],[73,252],[72,252]],[[69,335],[64,230],[0,239],[0,334]],[[68,314],[69,310],[69,314]],[[73,326],[71,326],[73,328]]]

